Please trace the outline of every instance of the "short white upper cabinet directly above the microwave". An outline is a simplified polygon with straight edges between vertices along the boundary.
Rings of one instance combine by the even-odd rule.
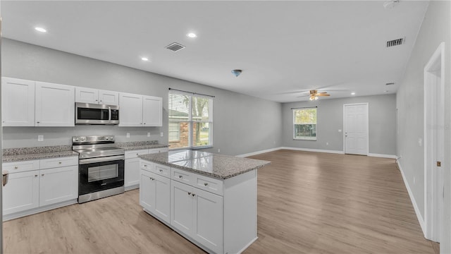
[[[118,105],[119,93],[88,87],[75,87],[75,102]]]

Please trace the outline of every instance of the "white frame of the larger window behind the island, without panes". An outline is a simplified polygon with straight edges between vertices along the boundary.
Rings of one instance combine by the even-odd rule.
[[[188,119],[184,120],[184,121],[171,121],[170,117],[171,117],[171,113],[170,113],[170,108],[168,107],[168,129],[169,129],[169,123],[188,123],[188,144],[186,147],[173,147],[171,148],[171,141],[169,141],[169,137],[168,137],[168,144],[170,146],[169,150],[183,150],[183,149],[189,149],[189,150],[199,150],[199,149],[205,149],[205,148],[211,148],[213,147],[213,97],[208,97],[208,96],[202,96],[202,95],[197,95],[197,94],[193,94],[193,93],[189,93],[189,92],[169,92],[168,93],[168,106],[169,103],[171,102],[171,94],[173,95],[183,95],[183,96],[187,96],[189,98],[189,103],[188,103],[188,107],[187,107],[187,111],[188,111]],[[198,98],[205,98],[205,99],[209,99],[209,104],[208,104],[208,109],[209,109],[209,119],[207,121],[205,120],[194,120],[193,118],[193,97],[198,97]],[[198,145],[195,146],[194,145],[194,123],[209,123],[209,144],[208,145]],[[180,131],[179,131],[180,133]],[[181,133],[180,133],[181,135]]]

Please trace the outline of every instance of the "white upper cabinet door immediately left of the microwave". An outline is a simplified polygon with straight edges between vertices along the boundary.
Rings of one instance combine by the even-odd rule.
[[[35,126],[75,126],[75,87],[36,82],[35,113]]]

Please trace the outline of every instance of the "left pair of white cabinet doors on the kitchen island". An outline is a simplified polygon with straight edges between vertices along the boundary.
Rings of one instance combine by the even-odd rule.
[[[171,180],[141,170],[140,205],[166,223],[171,223]]]

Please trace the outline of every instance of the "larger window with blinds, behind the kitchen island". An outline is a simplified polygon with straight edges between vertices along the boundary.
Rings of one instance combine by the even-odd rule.
[[[211,147],[213,99],[169,92],[169,148]]]

